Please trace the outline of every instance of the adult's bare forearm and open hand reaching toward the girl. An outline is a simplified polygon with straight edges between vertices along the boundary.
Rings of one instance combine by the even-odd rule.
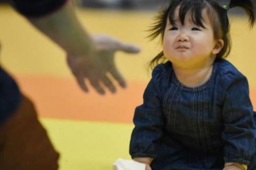
[[[88,92],[85,80],[100,94],[104,94],[104,86],[111,92],[116,91],[113,79],[125,87],[125,81],[114,64],[114,53],[138,53],[137,46],[122,43],[107,35],[91,36],[78,20],[71,1],[54,13],[28,19],[66,51],[68,66],[85,92]]]

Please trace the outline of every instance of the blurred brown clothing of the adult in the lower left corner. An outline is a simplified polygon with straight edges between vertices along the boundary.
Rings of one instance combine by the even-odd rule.
[[[58,159],[32,102],[21,96],[18,110],[0,125],[0,169],[55,170]]]

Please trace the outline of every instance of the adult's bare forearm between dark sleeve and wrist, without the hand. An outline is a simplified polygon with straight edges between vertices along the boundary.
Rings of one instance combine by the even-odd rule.
[[[90,54],[94,50],[94,43],[78,21],[71,1],[54,13],[28,19],[67,53]]]

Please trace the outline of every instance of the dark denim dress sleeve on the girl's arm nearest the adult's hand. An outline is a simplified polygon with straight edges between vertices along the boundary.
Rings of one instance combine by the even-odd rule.
[[[159,84],[157,85],[159,86]],[[155,88],[154,80],[150,80],[143,99],[143,104],[136,107],[133,119],[135,128],[130,141],[132,158],[156,157],[157,143],[165,126],[161,100]]]

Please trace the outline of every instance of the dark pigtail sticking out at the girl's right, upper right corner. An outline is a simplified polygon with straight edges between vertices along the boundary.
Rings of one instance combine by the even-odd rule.
[[[249,25],[252,28],[255,24],[255,5],[251,0],[231,0],[228,8],[241,7],[249,16]]]

